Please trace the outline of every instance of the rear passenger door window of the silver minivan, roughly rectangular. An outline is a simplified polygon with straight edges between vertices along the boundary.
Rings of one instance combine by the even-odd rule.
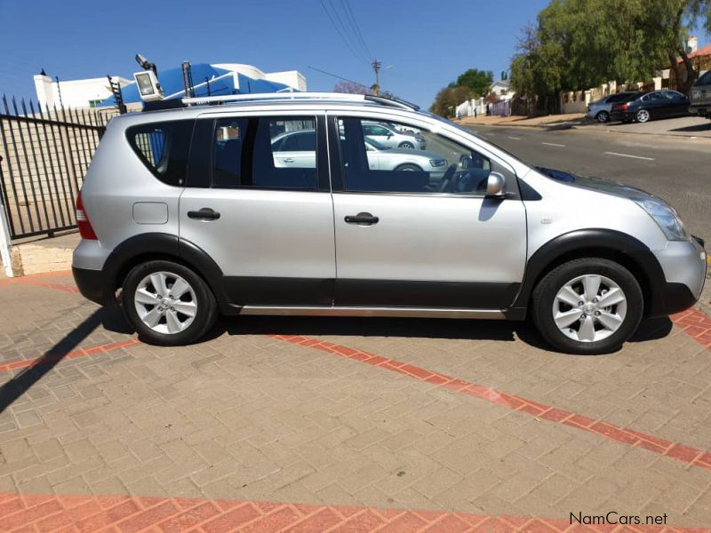
[[[220,119],[212,187],[316,190],[316,119]]]

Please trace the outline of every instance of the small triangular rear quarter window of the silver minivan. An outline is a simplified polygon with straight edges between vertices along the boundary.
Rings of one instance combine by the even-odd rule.
[[[193,124],[191,120],[143,124],[129,128],[126,135],[133,150],[156,178],[168,185],[182,186]]]

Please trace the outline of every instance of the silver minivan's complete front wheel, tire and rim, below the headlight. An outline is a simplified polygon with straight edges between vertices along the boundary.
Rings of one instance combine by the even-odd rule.
[[[627,268],[609,259],[574,259],[555,267],[533,291],[541,335],[569,354],[608,354],[637,329],[643,294]]]

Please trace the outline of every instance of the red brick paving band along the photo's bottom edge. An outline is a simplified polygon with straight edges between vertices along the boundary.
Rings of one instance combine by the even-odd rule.
[[[528,516],[410,511],[293,505],[200,498],[129,496],[53,496],[0,493],[0,530],[3,531],[637,531],[701,533],[711,529],[683,529],[642,524],[580,526],[570,520]],[[581,529],[582,528],[582,529]]]

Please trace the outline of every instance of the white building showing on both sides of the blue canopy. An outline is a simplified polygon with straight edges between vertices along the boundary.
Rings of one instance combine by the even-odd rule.
[[[306,91],[306,77],[298,70],[287,70],[284,72],[263,72],[252,65],[240,63],[216,63],[213,68],[220,68],[232,73],[234,77],[234,87],[239,87],[239,76],[247,76],[250,80],[266,80],[277,84],[284,84],[294,91]],[[137,68],[138,70],[138,68]],[[160,72],[158,73],[161,74]],[[225,76],[225,75],[223,75]],[[122,76],[111,76],[114,82],[121,85],[121,88],[135,84],[133,79]],[[244,79],[244,78],[243,78]],[[196,86],[203,84],[202,80],[194,80]],[[35,90],[37,99],[42,107],[95,107],[105,99],[112,96],[111,87],[108,84],[108,77],[87,78],[84,80],[60,81],[57,83],[50,76],[41,74],[35,76]],[[247,91],[248,92],[248,91]],[[170,95],[166,94],[166,97]]]

